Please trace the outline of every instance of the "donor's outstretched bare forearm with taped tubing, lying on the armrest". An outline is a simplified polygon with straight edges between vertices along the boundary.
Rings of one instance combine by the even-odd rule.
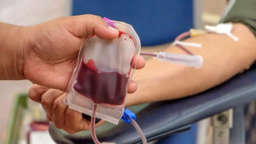
[[[186,40],[202,44],[201,49],[187,47],[203,57],[200,69],[148,59],[133,76],[138,90],[128,95],[126,106],[200,93],[248,69],[256,59],[256,39],[242,24],[234,24],[232,33],[239,37],[238,42],[213,33]],[[165,51],[185,54],[178,47]]]

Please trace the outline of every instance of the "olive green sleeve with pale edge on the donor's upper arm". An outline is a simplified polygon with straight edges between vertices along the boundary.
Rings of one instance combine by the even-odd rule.
[[[242,23],[246,25],[256,37],[256,1],[229,0],[220,22]]]

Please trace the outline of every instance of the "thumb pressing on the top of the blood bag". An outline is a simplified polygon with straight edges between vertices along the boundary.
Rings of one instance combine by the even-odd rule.
[[[119,32],[110,27],[100,16],[84,14],[63,17],[61,24],[76,37],[96,34],[101,39],[113,39]]]

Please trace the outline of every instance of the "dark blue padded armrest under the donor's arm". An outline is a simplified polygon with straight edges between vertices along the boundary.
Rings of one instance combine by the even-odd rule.
[[[251,68],[225,83],[203,93],[147,105],[137,113],[137,123],[148,141],[168,136],[189,128],[199,120],[237,107],[256,99],[256,69]],[[55,141],[66,139],[74,143],[93,143],[90,135],[60,135],[53,126],[50,133]],[[101,142],[117,144],[142,143],[132,124],[124,122],[97,134]]]

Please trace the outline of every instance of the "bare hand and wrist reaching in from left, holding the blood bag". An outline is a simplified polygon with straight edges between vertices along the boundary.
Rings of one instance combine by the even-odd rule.
[[[0,23],[0,31],[0,80],[28,79],[62,91],[69,85],[83,36],[118,36],[95,15],[60,17],[33,26]]]

